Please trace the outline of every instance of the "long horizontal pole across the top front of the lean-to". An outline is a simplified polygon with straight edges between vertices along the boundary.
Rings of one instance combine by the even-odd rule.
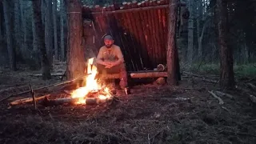
[[[172,4],[173,6],[176,4]],[[186,6],[185,3],[180,3],[181,6]],[[139,11],[139,10],[154,10],[154,9],[161,9],[161,8],[167,8],[169,5],[160,5],[160,6],[147,6],[147,7],[138,7],[138,8],[131,8],[131,9],[125,9],[125,10],[113,10],[113,11],[100,11],[100,12],[92,12],[91,14],[116,14],[116,13],[124,13],[124,12],[131,12],[131,11]]]

